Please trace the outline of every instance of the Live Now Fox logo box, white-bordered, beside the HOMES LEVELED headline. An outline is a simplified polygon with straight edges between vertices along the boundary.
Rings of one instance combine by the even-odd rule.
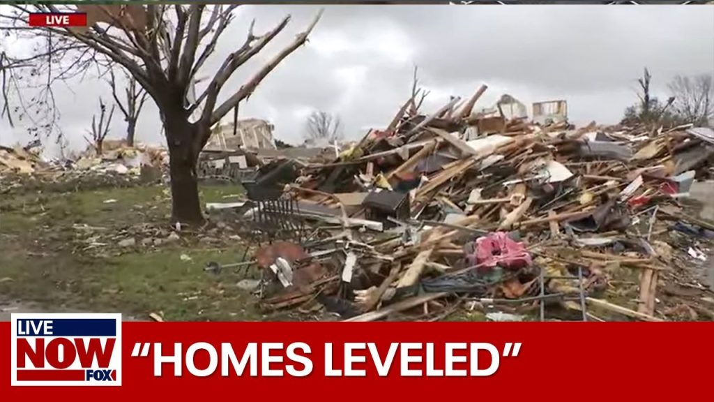
[[[121,314],[13,314],[13,386],[121,386]]]

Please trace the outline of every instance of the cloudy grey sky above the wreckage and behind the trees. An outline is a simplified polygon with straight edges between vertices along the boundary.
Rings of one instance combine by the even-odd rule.
[[[293,19],[261,57],[234,74],[229,95],[261,62],[301,31],[314,6],[241,6],[203,74],[243,42],[248,23],[266,31]],[[275,137],[301,142],[313,109],[339,114],[344,134],[383,128],[411,91],[413,66],[431,91],[424,112],[450,95],[488,91],[477,107],[503,93],[531,102],[567,99],[570,119],[615,123],[636,101],[636,79],[648,67],[653,87],[666,95],[675,74],[714,74],[714,6],[327,6],[306,46],[283,61],[240,107],[241,118],[268,119]],[[203,75],[199,73],[198,75]],[[61,127],[72,147],[84,147],[96,98],[111,99],[107,84],[84,79],[58,86]],[[140,141],[164,143],[156,107],[139,119]],[[530,107],[529,107],[530,113]],[[111,137],[125,127],[115,117]],[[0,142],[26,142],[24,129],[0,122]]]

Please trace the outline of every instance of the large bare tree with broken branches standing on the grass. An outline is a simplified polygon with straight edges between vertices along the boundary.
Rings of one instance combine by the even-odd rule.
[[[223,60],[203,92],[193,102],[188,101],[186,94],[194,77],[215,51],[218,39],[233,21],[237,6],[153,2],[106,6],[12,5],[0,10],[3,14],[0,21],[10,21],[17,29],[35,35],[35,42],[42,44],[42,49],[37,49],[31,58],[14,60],[13,64],[40,61],[49,81],[61,74],[66,77],[68,73],[63,73],[66,69],[80,71],[87,62],[91,66],[108,68],[120,64],[136,79],[154,99],[164,123],[170,155],[172,220],[201,223],[203,215],[198,199],[196,161],[211,136],[211,126],[238,107],[238,103],[248,98],[278,64],[306,42],[322,14],[318,13],[305,31],[268,59],[240,87],[231,88],[228,96],[221,97],[223,102],[218,102],[218,94],[236,69],[253,59],[280,34],[288,25],[290,16],[265,34],[255,34],[253,21],[243,43]],[[8,9],[15,12],[8,13]],[[61,11],[86,12],[88,26],[86,29],[60,29],[29,28],[26,25],[29,12]],[[43,38],[44,41],[38,40]],[[191,119],[192,115],[197,118]]]

